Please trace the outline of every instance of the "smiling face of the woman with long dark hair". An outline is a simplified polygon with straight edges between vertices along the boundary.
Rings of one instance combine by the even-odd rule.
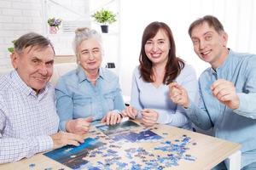
[[[170,40],[166,32],[159,30],[153,38],[145,43],[145,53],[153,65],[166,64],[170,49]]]

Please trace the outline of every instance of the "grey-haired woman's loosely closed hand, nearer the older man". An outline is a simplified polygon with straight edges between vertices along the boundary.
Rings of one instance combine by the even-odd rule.
[[[84,134],[90,129],[90,122],[92,117],[79,118],[70,120],[66,123],[66,129],[69,133]]]

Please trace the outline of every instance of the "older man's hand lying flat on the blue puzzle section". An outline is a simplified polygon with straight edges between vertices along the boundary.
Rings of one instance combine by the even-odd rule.
[[[84,143],[84,137],[74,133],[59,132],[50,135],[50,138],[53,140],[54,149],[60,148],[67,144],[79,146],[80,143]]]

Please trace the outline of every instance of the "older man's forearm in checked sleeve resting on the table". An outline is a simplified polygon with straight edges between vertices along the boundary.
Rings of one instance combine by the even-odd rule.
[[[0,163],[19,161],[38,152],[50,150],[53,141],[49,136],[37,136],[27,139],[2,138],[0,139]]]

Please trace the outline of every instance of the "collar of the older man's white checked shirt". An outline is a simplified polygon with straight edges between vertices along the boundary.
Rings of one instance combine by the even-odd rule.
[[[16,88],[19,88],[22,93],[26,94],[27,96],[37,96],[37,93],[32,88],[28,87],[25,82],[23,82],[16,70],[12,71],[11,75],[15,80],[14,85],[16,86]],[[47,83],[46,87],[39,91],[38,96],[46,94],[48,92],[48,86],[49,84]]]

